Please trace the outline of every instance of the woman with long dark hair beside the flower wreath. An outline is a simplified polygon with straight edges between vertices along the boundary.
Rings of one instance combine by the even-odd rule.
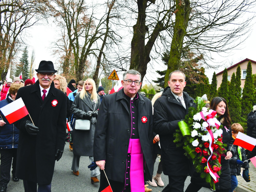
[[[219,182],[215,184],[216,191],[218,192],[228,192],[231,189],[231,176],[229,159],[234,154],[232,147],[232,132],[231,132],[231,120],[228,111],[228,104],[224,98],[215,97],[211,100],[210,109],[217,112],[218,120],[223,125],[222,127],[222,142],[227,144],[227,153],[222,154],[220,164],[221,164],[221,175]],[[231,151],[230,151],[231,149]],[[194,173],[191,177],[191,183],[187,187],[185,192],[195,192],[199,191],[202,187],[210,187],[209,184],[201,179],[199,173]]]

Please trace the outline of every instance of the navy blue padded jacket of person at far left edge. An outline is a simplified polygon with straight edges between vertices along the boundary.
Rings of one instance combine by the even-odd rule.
[[[13,102],[13,100],[10,99],[9,94],[7,94],[7,98],[0,101],[0,108],[11,102]],[[2,112],[1,116],[6,124],[0,127],[0,149],[18,148],[19,130],[13,123],[9,124]],[[2,118],[0,118],[0,120],[2,120]]]

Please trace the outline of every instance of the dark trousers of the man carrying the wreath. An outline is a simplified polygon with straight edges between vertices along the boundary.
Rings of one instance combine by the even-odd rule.
[[[168,176],[169,184],[162,190],[162,192],[183,192],[184,183],[187,176]]]

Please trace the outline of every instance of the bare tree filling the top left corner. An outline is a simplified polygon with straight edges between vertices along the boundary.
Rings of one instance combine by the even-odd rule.
[[[26,28],[39,22],[45,16],[48,1],[2,0],[0,2],[0,74],[6,77]]]

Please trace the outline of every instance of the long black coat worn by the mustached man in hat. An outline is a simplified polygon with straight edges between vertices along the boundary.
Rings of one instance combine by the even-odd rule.
[[[43,101],[38,80],[34,85],[20,88],[16,100],[19,98],[24,101],[39,133],[27,133],[25,124],[27,120],[31,121],[29,115],[14,123],[20,130],[16,176],[48,185],[54,172],[56,150],[64,150],[65,146],[67,98],[52,82]],[[58,101],[56,106],[52,105],[53,100]]]

